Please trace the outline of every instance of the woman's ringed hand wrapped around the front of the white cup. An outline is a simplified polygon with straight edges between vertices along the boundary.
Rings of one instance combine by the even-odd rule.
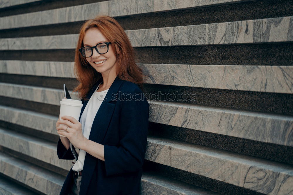
[[[86,138],[82,134],[81,123],[78,122],[74,117],[70,116],[62,116],[61,119],[62,120],[59,120],[56,123],[56,126],[58,125],[57,133],[59,135],[66,136],[75,147],[81,148],[86,141]],[[68,128],[67,126],[59,126],[59,124],[65,124],[68,126]],[[61,129],[64,131],[67,129],[67,132],[59,131]]]

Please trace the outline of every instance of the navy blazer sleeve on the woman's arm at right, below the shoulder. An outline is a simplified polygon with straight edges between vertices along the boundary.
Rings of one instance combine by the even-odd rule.
[[[149,103],[139,88],[131,92],[131,100],[123,100],[120,113],[119,147],[104,145],[106,175],[135,172],[142,168],[147,146]],[[129,96],[127,96],[127,99]],[[139,100],[138,100],[139,99]]]

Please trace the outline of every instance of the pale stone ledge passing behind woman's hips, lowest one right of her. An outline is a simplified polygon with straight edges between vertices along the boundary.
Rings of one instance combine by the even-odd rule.
[[[13,144],[12,144],[13,143]],[[0,128],[0,145],[19,153],[28,155],[32,158],[50,163],[59,168],[70,170],[72,161],[76,160],[60,160],[57,157],[57,144],[49,141],[35,138],[22,133]],[[1,187],[1,186],[0,186]],[[161,194],[163,192],[181,192],[183,194],[218,194],[207,189],[195,187],[190,184],[176,181],[163,176],[152,174],[144,174],[142,177],[143,194]],[[160,193],[159,193],[160,192]],[[167,193],[167,194],[169,194]]]

